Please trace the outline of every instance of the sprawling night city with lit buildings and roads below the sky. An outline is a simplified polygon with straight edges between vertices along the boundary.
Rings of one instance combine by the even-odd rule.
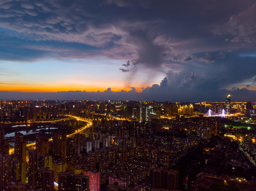
[[[254,190],[256,103],[230,101],[0,100],[0,189]]]

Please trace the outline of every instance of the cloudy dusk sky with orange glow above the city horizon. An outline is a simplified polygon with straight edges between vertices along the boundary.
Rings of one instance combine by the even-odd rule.
[[[0,99],[256,102],[255,0],[1,0]]]

